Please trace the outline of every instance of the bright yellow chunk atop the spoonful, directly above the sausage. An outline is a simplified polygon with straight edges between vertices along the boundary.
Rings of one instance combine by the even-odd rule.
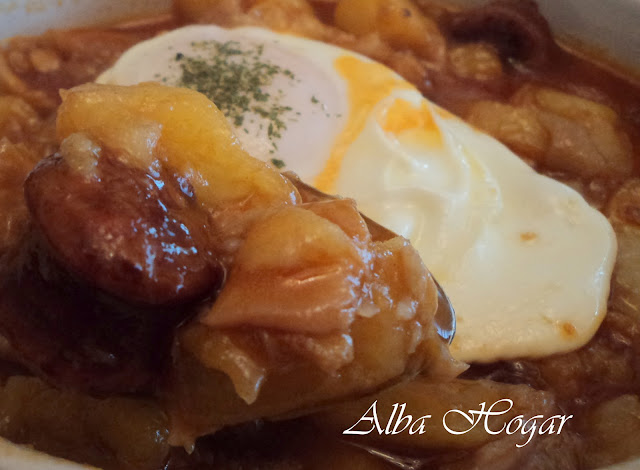
[[[87,84],[62,92],[57,135],[83,133],[123,150],[123,158],[169,165],[213,210],[294,203],[293,185],[247,154],[222,112],[204,95],[156,83]]]

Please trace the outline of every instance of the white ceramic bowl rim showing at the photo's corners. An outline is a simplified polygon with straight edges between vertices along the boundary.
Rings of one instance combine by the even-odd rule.
[[[446,0],[473,5],[485,0]],[[640,72],[640,0],[537,0],[556,35]],[[168,11],[171,0],[0,0],[0,40],[50,28],[106,24]],[[640,460],[610,467],[635,470]],[[0,462],[0,470],[9,470]]]

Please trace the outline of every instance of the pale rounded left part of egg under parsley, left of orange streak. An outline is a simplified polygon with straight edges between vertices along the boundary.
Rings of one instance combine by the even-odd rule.
[[[199,89],[225,112],[251,155],[314,175],[349,107],[346,87],[331,67],[339,52],[318,46],[311,52],[310,44],[260,28],[188,26],[129,49],[97,81]]]

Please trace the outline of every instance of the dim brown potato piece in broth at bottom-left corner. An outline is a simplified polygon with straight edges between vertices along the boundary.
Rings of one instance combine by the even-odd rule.
[[[105,470],[161,468],[166,415],[150,400],[95,399],[34,377],[0,387],[0,436]]]

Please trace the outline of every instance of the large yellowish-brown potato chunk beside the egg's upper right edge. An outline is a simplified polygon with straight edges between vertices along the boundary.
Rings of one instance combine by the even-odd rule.
[[[467,119],[522,157],[552,170],[617,178],[633,166],[631,143],[617,113],[575,95],[526,85],[509,104],[474,103]]]

